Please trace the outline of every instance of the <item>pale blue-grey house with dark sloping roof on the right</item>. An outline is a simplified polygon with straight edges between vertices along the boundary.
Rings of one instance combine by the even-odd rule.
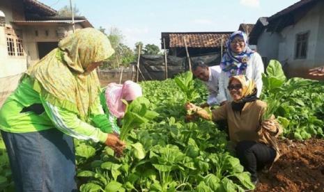
[[[324,64],[324,1],[298,1],[261,17],[249,40],[265,61],[280,61],[288,77],[309,78],[309,69]]]

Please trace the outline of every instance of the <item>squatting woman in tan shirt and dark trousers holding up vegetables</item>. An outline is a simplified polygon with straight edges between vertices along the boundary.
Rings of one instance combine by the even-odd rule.
[[[227,120],[229,139],[234,144],[236,155],[256,184],[259,182],[256,170],[279,158],[276,137],[282,129],[273,116],[263,120],[266,103],[256,97],[256,85],[252,79],[245,75],[233,76],[227,88],[233,102],[213,110],[211,115],[191,103],[185,104],[185,109],[195,111],[207,120]]]

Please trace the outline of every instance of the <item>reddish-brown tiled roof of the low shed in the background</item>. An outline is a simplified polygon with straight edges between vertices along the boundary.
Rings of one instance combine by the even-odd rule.
[[[184,39],[187,47],[221,47],[222,41],[224,46],[231,33],[233,32],[162,33],[162,45],[163,38],[165,38],[167,49],[170,47],[185,47]]]

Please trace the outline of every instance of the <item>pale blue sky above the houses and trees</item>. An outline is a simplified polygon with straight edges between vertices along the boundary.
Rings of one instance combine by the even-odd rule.
[[[59,10],[69,0],[38,0]],[[141,41],[160,47],[161,32],[236,31],[240,23],[255,24],[298,0],[72,0],[95,28],[121,30],[131,48]]]

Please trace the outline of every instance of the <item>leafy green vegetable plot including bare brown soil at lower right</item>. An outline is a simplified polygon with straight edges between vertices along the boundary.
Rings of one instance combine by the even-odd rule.
[[[261,99],[273,104],[272,110],[284,126],[284,138],[279,141],[282,156],[269,173],[259,173],[261,184],[255,191],[323,191],[324,83],[287,80],[277,64],[271,64],[263,77]],[[150,120],[155,115],[147,113],[150,118],[132,123],[137,127],[125,135],[128,145],[123,157],[115,157],[113,150],[99,143],[75,141],[80,191],[254,189],[218,125],[201,119],[186,122],[188,95],[201,104],[208,93],[200,81],[180,78],[194,89],[183,94],[173,79],[141,82],[148,102],[135,102],[133,112],[146,114],[149,110],[159,115]],[[0,173],[7,178],[0,177],[0,189],[12,186],[8,161],[1,165]]]

